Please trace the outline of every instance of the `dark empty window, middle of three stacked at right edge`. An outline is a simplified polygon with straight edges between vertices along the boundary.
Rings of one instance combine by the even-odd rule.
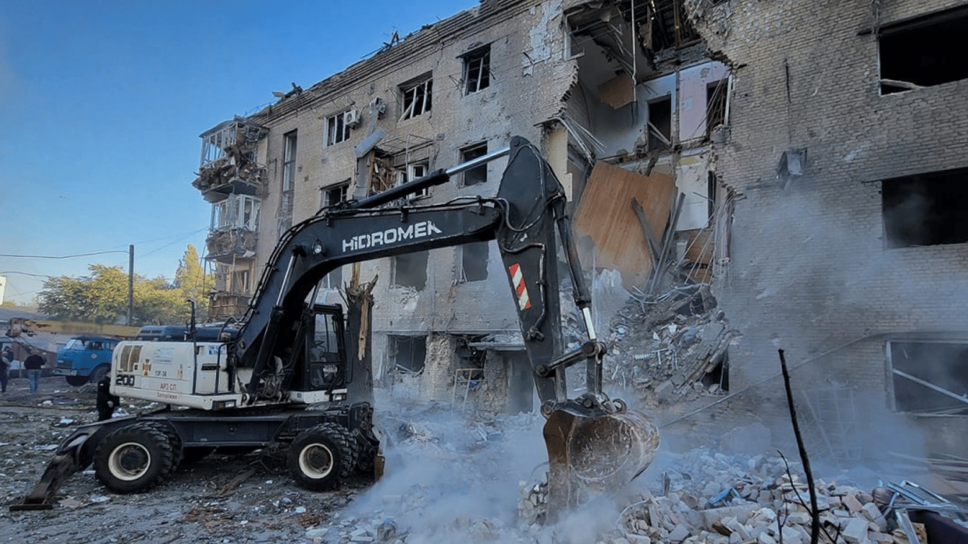
[[[968,168],[886,179],[881,202],[888,248],[968,242]]]

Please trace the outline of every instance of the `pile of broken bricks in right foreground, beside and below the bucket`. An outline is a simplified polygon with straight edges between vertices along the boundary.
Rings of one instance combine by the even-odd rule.
[[[615,527],[599,535],[599,544],[810,542],[810,498],[798,464],[788,467],[781,457],[725,456],[706,448],[669,457],[662,464],[675,468],[650,469],[648,489],[621,509]],[[546,486],[526,487],[518,503],[519,515],[532,532],[543,516]],[[884,502],[878,505],[871,493],[825,480],[816,481],[816,493],[821,542],[914,541],[897,526],[890,508],[898,503],[891,504],[890,493],[879,497]],[[923,527],[897,511],[917,541],[926,542]]]

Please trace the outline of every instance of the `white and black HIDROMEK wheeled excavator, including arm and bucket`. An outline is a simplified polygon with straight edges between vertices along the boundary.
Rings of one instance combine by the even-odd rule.
[[[405,198],[504,156],[497,196],[430,205]],[[57,487],[92,464],[112,492],[146,491],[214,448],[282,444],[292,478],[312,490],[337,486],[356,470],[378,474],[374,408],[348,398],[343,311],[317,304],[317,286],[348,263],[489,240],[497,240],[546,418],[549,515],[619,488],[649,466],[659,438],[644,414],[602,391],[606,348],[592,326],[565,202],[538,150],[514,137],[468,163],[321,210],[282,236],[238,328],[202,340],[192,326],[181,342],[119,344],[111,392],[166,408],[80,426],[11,509],[49,508]],[[560,260],[587,332],[573,351],[562,341]],[[565,370],[580,364],[585,392],[569,398]]]

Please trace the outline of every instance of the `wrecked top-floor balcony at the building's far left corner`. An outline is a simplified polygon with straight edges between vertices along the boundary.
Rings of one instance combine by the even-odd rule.
[[[268,129],[235,116],[201,135],[201,164],[192,183],[209,202],[229,195],[259,196],[266,167],[257,163],[258,141]]]

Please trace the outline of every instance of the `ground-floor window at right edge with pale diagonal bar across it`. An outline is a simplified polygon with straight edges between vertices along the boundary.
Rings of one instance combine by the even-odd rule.
[[[889,342],[894,409],[968,415],[968,344]]]

